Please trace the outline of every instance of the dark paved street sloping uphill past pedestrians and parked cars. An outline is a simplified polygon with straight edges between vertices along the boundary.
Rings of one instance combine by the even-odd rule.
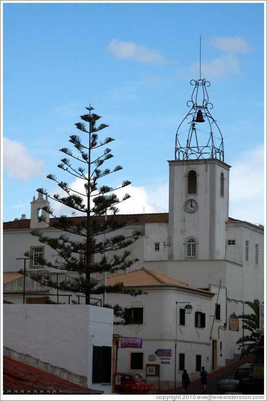
[[[254,357],[249,356],[210,374],[208,376],[208,382],[207,382],[207,394],[215,394],[216,384],[218,383],[219,380],[226,378],[234,378],[235,372],[239,366],[243,365],[244,363],[253,361]],[[157,394],[182,394],[182,393],[183,393],[182,387],[177,387],[174,390],[168,390],[168,391],[160,391],[160,390],[157,391]],[[194,380],[191,383],[191,385],[188,387],[187,394],[204,394],[202,390],[202,385],[200,383],[200,378]]]

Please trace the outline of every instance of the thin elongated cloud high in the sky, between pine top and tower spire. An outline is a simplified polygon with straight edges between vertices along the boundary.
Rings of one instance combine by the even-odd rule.
[[[115,57],[119,59],[135,60],[141,63],[163,64],[166,63],[159,51],[151,50],[133,42],[123,42],[113,39],[107,46]]]

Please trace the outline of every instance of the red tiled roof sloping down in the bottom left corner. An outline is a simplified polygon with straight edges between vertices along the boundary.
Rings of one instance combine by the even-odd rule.
[[[102,394],[3,356],[4,394]]]

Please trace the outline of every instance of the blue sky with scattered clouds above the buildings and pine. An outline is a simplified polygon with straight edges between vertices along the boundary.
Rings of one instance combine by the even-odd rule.
[[[201,77],[232,166],[229,215],[264,224],[265,5],[1,1],[3,221],[30,218],[37,188],[58,192],[47,174],[70,182],[58,150],[90,103],[109,124],[102,138],[115,139],[108,166],[123,167],[109,184],[132,182],[121,212],[168,212],[201,35]]]

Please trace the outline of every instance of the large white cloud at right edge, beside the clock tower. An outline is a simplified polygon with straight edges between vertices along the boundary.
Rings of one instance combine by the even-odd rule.
[[[264,224],[264,194],[264,148],[257,146],[232,165],[229,215]]]

